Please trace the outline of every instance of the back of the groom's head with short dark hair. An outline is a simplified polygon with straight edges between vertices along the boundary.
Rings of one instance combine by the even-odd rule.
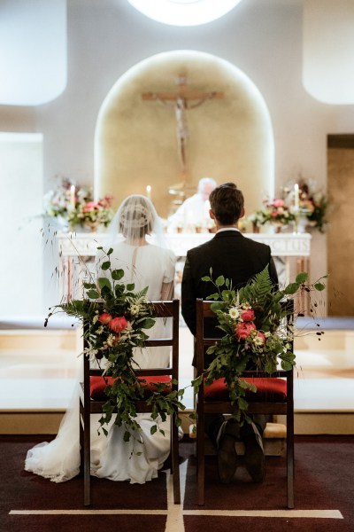
[[[221,225],[233,225],[239,220],[244,199],[235,183],[220,184],[212,191],[209,201],[212,212]]]

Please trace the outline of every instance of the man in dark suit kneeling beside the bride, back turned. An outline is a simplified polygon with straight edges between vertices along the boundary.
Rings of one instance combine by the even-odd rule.
[[[269,275],[274,285],[278,284],[271,249],[243,237],[237,229],[240,218],[244,215],[242,192],[234,183],[219,185],[209,197],[210,216],[214,220],[217,232],[212,240],[201,246],[189,249],[183,270],[181,285],[181,310],[190,332],[196,335],[196,298],[206,299],[215,292],[212,283],[202,281],[204,276],[212,278],[220,275],[232,281],[235,290],[245,286],[268,265]],[[207,327],[208,329],[208,327]],[[209,326],[207,336],[219,336],[215,326]],[[222,416],[205,416],[205,429],[218,450],[220,481],[230,482],[238,464],[235,440],[242,440],[245,445],[244,463],[255,482],[262,482],[265,477],[265,455],[262,435],[266,427],[266,416],[253,417],[253,423],[243,426],[235,419],[224,420]]]

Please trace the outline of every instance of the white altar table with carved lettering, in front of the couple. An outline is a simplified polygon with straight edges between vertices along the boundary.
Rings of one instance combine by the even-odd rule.
[[[310,233],[243,233],[245,237],[270,246],[281,284],[289,282],[290,275],[310,272]],[[177,261],[183,264],[187,252],[214,236],[213,233],[166,233],[168,246]],[[105,233],[58,232],[58,255],[62,301],[82,296],[82,281],[94,273],[98,246],[105,249]],[[306,305],[304,305],[306,306]]]

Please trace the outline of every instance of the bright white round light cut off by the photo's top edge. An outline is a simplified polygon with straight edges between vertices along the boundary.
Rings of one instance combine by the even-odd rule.
[[[198,26],[219,19],[242,0],[128,0],[150,19],[172,26]]]

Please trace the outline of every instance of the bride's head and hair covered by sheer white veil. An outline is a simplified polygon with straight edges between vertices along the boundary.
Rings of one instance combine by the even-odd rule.
[[[158,246],[165,247],[164,231],[158,213],[149,198],[140,194],[122,201],[107,230],[108,244],[114,244],[119,234],[127,243],[134,243],[149,235]]]

